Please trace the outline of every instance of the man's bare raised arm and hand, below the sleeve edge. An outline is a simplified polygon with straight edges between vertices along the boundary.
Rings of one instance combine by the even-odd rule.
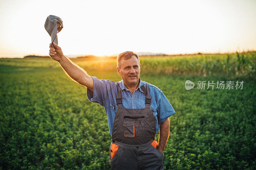
[[[92,77],[88,76],[84,69],[82,69],[81,67],[73,63],[71,60],[69,60],[68,57],[63,55],[63,52],[58,45],[53,43],[53,46],[54,48],[52,48],[50,44],[50,57],[60,63],[62,69],[65,71],[69,78],[73,79],[80,85],[86,86],[93,92]]]

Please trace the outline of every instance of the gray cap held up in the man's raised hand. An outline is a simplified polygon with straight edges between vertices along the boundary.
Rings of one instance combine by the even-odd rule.
[[[60,17],[49,15],[44,23],[44,28],[47,33],[49,33],[49,35],[52,37],[52,42],[58,45],[57,33],[60,32],[63,28],[63,23]]]

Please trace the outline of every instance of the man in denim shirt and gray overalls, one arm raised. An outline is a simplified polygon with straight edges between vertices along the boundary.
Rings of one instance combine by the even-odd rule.
[[[163,152],[169,137],[169,117],[175,113],[163,92],[140,80],[140,60],[126,51],[117,57],[122,80],[91,77],[70,61],[56,44],[50,44],[52,59],[65,72],[87,87],[90,101],[105,107],[112,136],[109,161],[112,169],[163,169]],[[160,125],[160,130],[159,130]],[[159,144],[155,135],[159,131]]]

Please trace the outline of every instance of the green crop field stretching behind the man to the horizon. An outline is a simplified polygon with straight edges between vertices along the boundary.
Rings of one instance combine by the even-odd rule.
[[[176,111],[164,169],[256,169],[256,52],[140,59],[141,80],[159,87]],[[121,80],[115,58],[72,61],[91,76]],[[0,169],[111,169],[104,107],[59,63],[1,58],[0,78]],[[186,80],[194,89],[185,89]],[[244,84],[206,90],[196,89],[198,81]]]

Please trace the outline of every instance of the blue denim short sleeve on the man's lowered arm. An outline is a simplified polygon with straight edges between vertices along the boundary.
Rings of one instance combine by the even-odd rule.
[[[158,105],[159,107],[157,109],[157,120],[158,124],[162,124],[168,117],[175,113],[175,110],[163,92],[160,94]]]

